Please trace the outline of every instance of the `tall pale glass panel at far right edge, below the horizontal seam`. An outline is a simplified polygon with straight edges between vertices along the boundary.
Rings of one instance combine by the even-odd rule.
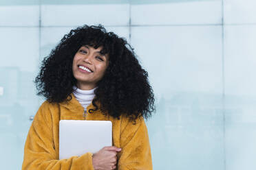
[[[227,170],[255,169],[256,26],[225,27]]]

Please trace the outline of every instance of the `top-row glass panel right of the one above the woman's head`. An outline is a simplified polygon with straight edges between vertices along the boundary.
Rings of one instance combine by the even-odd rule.
[[[220,24],[222,1],[173,1],[131,5],[132,25]]]

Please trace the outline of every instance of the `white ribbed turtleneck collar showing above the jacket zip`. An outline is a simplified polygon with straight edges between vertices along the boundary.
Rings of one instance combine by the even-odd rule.
[[[92,99],[94,99],[94,90],[96,88],[93,88],[92,90],[81,90],[76,86],[73,86],[73,89],[74,97],[76,97],[79,103],[83,106],[84,110],[86,110],[87,106],[92,103]]]

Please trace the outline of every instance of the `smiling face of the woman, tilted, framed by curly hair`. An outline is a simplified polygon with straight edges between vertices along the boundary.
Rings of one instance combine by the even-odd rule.
[[[94,47],[84,45],[76,52],[72,71],[77,80],[76,86],[82,90],[90,90],[96,87],[96,83],[103,77],[109,58],[107,54],[103,55],[100,51],[103,47]]]

